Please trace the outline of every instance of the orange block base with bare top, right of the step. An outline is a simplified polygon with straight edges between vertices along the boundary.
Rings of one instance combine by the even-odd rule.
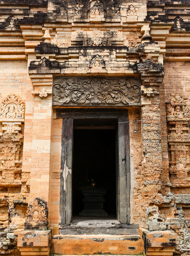
[[[172,256],[176,246],[176,234],[173,230],[149,231],[139,228],[143,238],[143,253],[147,256]]]

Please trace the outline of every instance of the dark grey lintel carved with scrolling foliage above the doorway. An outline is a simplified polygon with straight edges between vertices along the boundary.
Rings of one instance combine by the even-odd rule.
[[[56,78],[53,106],[129,106],[140,105],[139,79]]]

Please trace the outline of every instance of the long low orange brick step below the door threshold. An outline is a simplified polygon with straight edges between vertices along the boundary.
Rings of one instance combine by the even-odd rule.
[[[54,235],[51,253],[139,255],[143,253],[143,240],[139,235]]]

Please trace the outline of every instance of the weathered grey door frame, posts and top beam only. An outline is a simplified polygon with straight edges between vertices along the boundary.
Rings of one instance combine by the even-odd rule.
[[[89,110],[89,109],[70,109],[62,112],[56,111],[56,118],[63,118],[62,121],[62,140],[61,140],[61,170],[60,170],[60,225],[68,225],[72,221],[72,163],[73,163],[73,130],[74,125],[83,124],[86,121],[97,121],[100,123],[112,123],[116,126],[118,134],[123,134],[124,142],[120,145],[123,152],[118,154],[118,167],[122,172],[122,184],[125,187],[121,193],[126,193],[126,213],[121,213],[117,220],[121,223],[130,224],[130,143],[129,143],[129,118],[128,111],[125,110]],[[114,125],[113,125],[114,123]],[[118,124],[119,123],[119,124]],[[86,126],[86,125],[84,125]],[[118,135],[119,138],[120,135]],[[122,142],[122,140],[121,140]],[[122,148],[123,147],[123,148]],[[123,154],[123,155],[122,155]],[[117,159],[116,159],[117,162]],[[125,164],[124,164],[125,162]],[[66,175],[67,174],[67,175]],[[126,177],[126,178],[124,178]],[[124,185],[126,184],[126,186]],[[65,188],[64,188],[65,186]],[[122,202],[120,201],[120,206]],[[123,214],[123,215],[122,215]],[[126,214],[126,216],[124,216]],[[118,214],[117,214],[118,215]],[[122,216],[121,216],[122,215]]]

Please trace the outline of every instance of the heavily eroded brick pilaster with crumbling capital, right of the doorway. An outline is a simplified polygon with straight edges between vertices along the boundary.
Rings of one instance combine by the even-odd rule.
[[[161,63],[150,60],[139,64],[138,71],[141,73],[142,79],[141,119],[145,119],[141,122],[142,197],[144,201],[141,218],[145,224],[147,207],[150,206],[150,203],[156,204],[156,197],[161,189],[162,148],[159,86],[162,83],[164,71]]]

